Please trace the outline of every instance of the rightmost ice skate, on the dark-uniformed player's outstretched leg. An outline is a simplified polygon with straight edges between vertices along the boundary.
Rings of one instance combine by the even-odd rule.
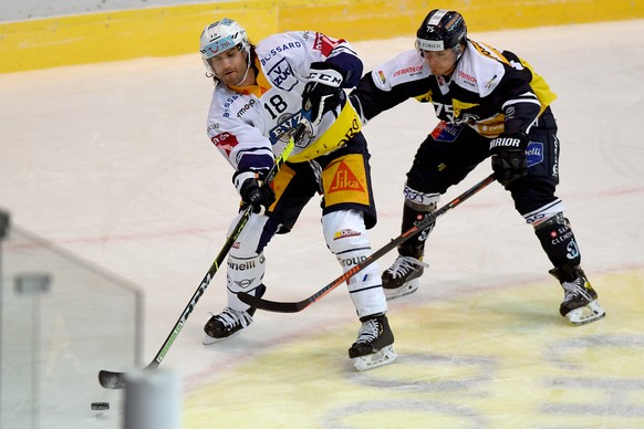
[[[582,269],[575,266],[573,270],[572,273],[569,268],[559,268],[550,271],[550,274],[557,278],[563,287],[563,302],[559,306],[559,313],[573,325],[585,325],[586,323],[599,321],[606,315],[606,312],[598,303],[598,293],[588,281]],[[567,273],[565,271],[569,272]],[[572,276],[575,278],[567,281]]]

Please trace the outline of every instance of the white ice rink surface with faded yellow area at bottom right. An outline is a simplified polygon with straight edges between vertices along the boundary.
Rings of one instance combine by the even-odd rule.
[[[572,327],[559,316],[562,290],[532,228],[492,184],[440,218],[419,291],[389,302],[398,360],[387,367],[353,369],[360,324],[343,287],[298,314],[258,312],[240,336],[202,346],[207,313],[226,305],[218,273],[162,364],[181,377],[184,428],[644,427],[644,21],[470,38],[528,60],[559,95],[558,196],[606,317]],[[412,46],[354,44],[365,71]],[[0,207],[142,287],[142,365],[236,212],[232,170],[205,134],[211,90],[197,54],[0,75]],[[435,124],[430,106],[407,102],[364,128],[374,249],[399,233],[405,172]],[[484,163],[442,202],[489,171]],[[271,300],[302,300],[341,274],[318,201],[266,255]],[[90,415],[87,404],[67,421],[116,428],[120,409]]]

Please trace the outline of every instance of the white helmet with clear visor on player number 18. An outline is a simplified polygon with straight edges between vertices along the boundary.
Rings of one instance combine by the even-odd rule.
[[[250,42],[246,30],[237,21],[229,18],[206,25],[199,38],[201,59],[210,72],[212,72],[212,67],[208,60],[236,46],[247,53],[250,52]]]

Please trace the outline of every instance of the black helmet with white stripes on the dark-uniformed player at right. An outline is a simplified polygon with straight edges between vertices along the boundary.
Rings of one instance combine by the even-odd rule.
[[[422,51],[445,51],[465,44],[466,39],[467,27],[460,13],[434,9],[416,32],[416,48]]]

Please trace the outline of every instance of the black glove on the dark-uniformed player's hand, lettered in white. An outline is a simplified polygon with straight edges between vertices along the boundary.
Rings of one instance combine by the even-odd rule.
[[[526,148],[530,137],[523,132],[502,133],[490,142],[495,178],[503,186],[528,174]]]

